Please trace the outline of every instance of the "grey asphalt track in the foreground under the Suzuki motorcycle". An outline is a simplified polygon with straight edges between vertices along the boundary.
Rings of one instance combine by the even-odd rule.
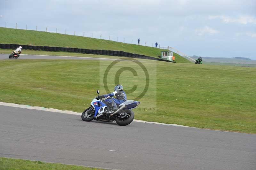
[[[136,113],[135,113],[136,114]],[[0,106],[0,157],[113,169],[252,170],[256,135]]]

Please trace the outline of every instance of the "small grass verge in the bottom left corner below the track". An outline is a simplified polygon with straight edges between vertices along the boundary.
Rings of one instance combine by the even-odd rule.
[[[103,170],[99,168],[65,165],[55,163],[45,163],[41,161],[30,161],[23,159],[1,158],[0,157],[0,170]]]

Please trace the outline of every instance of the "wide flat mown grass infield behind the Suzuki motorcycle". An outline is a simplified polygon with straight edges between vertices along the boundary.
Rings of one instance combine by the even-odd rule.
[[[82,112],[96,90],[106,93],[101,83],[104,70],[112,61],[96,60],[0,60],[0,101]],[[121,74],[126,91],[144,88],[143,72],[136,63]],[[198,128],[256,133],[256,68],[168,63],[144,60],[150,75],[145,96],[135,110],[135,119],[181,124]],[[119,67],[109,74],[115,76]],[[141,77],[141,78],[140,78]],[[112,89],[114,81],[109,81]]]

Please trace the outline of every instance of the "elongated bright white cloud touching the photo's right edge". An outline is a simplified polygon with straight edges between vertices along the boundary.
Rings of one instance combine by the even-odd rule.
[[[256,24],[256,18],[249,15],[239,16],[236,18],[225,15],[210,15],[208,18],[221,19],[224,23]]]

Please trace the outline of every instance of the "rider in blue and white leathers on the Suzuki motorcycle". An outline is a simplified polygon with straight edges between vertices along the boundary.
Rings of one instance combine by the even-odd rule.
[[[114,96],[116,96],[116,98],[114,98]],[[103,97],[107,97],[105,103],[107,103],[110,107],[113,107],[114,109],[117,109],[116,105],[124,103],[127,100],[124,88],[120,84],[115,86],[113,93],[99,96],[99,98]]]

